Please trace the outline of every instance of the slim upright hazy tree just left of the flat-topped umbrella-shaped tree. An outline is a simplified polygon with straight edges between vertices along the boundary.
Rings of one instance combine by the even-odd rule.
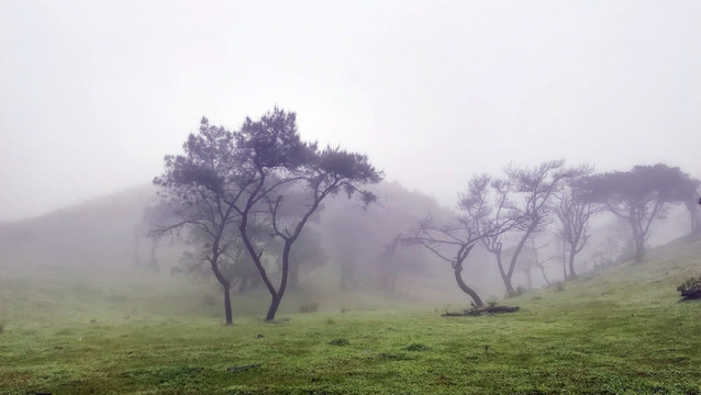
[[[589,240],[589,218],[601,211],[598,204],[583,196],[585,191],[581,183],[591,171],[590,167],[581,166],[577,169],[576,174],[567,179],[556,193],[555,213],[559,219],[556,233],[563,240],[563,248],[567,253],[566,267],[569,268],[569,273],[565,271],[566,279],[577,278],[575,257],[581,252]]]

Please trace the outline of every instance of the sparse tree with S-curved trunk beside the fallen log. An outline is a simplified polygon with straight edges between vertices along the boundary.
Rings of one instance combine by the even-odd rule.
[[[475,307],[483,307],[479,294],[463,278],[465,261],[470,251],[485,238],[509,232],[513,217],[502,215],[507,194],[499,181],[489,176],[470,179],[465,194],[459,196],[459,214],[448,224],[436,224],[432,218],[419,222],[408,242],[420,244],[436,257],[450,263],[455,281],[472,298]]]

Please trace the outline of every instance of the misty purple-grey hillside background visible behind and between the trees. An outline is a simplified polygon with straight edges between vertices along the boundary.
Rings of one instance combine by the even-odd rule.
[[[292,293],[314,289],[348,293],[381,291],[420,301],[469,303],[460,296],[448,263],[415,245],[394,242],[407,236],[426,217],[447,219],[453,210],[398,182],[377,188],[379,201],[363,210],[344,195],[324,204],[323,211],[305,232],[316,257],[299,262]],[[153,226],[144,216],[153,210],[155,189],[151,185],[124,191],[93,202],[65,208],[41,217],[0,226],[2,261],[7,270],[35,267],[102,271],[110,267],[155,273],[167,280],[188,278],[216,286],[211,272],[197,260],[197,248],[186,234],[154,239],[146,236]],[[614,215],[600,213],[592,218],[591,239],[576,260],[578,272],[632,258],[633,241],[628,224]],[[650,246],[667,242],[690,232],[690,217],[683,205],[669,207],[665,218],[650,229]],[[514,273],[514,285],[522,290],[547,286],[564,279],[561,241],[549,229],[528,240]],[[504,259],[513,253],[515,240],[508,238]],[[307,248],[311,248],[307,246]],[[313,258],[313,257],[312,257]],[[18,267],[13,267],[13,263]],[[270,264],[278,264],[270,261]],[[21,264],[21,267],[19,267]],[[130,269],[130,270],[131,270]],[[485,297],[503,297],[494,258],[476,247],[466,263],[466,279]],[[242,292],[262,286],[253,276],[236,284]],[[300,291],[301,289],[301,291]],[[323,301],[320,301],[323,306]]]

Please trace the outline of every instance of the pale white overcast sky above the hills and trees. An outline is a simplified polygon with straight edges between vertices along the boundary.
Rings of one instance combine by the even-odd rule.
[[[0,0],[0,221],[275,104],[448,206],[509,162],[701,177],[701,1]]]

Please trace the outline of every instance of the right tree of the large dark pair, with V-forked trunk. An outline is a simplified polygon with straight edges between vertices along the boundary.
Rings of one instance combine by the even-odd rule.
[[[321,202],[344,191],[348,198],[357,194],[363,204],[370,204],[376,200],[375,194],[361,188],[382,179],[381,172],[375,170],[365,155],[332,147],[320,150],[316,144],[301,142],[296,117],[294,113],[276,108],[259,121],[246,119],[241,131],[234,134],[243,160],[241,174],[233,181],[246,196],[234,207],[241,217],[238,229],[244,245],[271,296],[267,320],[275,319],[285,295],[292,246]],[[283,191],[293,191],[305,200],[304,210],[298,215],[286,215],[289,207],[286,207],[288,201]],[[282,240],[278,285],[272,284],[263,266],[264,250],[251,241],[249,222],[260,216],[269,222],[271,234]]]

